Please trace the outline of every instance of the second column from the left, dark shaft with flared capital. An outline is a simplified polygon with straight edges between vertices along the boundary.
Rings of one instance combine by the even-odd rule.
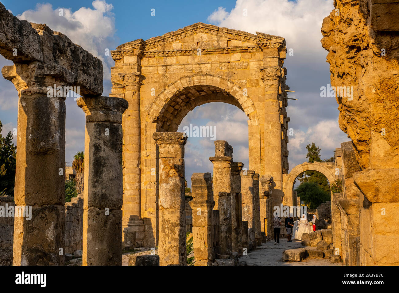
[[[83,265],[122,265],[122,114],[128,102],[83,97],[86,113]]]

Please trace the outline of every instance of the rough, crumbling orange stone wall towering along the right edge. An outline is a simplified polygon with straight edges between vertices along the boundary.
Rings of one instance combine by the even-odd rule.
[[[350,95],[337,91],[336,100],[340,128],[352,139],[361,170],[353,174],[361,191],[359,264],[397,265],[399,3],[335,0],[334,6],[323,21],[322,46],[332,86],[352,87]],[[342,200],[351,200],[345,192]]]

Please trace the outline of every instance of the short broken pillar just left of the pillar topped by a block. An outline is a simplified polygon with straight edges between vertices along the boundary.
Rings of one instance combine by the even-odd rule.
[[[213,201],[211,173],[194,173],[191,176],[193,200],[193,247],[195,265],[212,265],[215,260],[213,247]]]

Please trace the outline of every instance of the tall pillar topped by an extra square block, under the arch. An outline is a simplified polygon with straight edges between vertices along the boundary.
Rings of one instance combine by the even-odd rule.
[[[233,147],[224,140],[215,141],[213,163],[213,200],[219,210],[219,246],[221,254],[231,254],[231,163]]]

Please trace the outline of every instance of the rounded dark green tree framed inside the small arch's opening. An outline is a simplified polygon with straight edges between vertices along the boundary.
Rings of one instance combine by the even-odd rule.
[[[324,191],[315,182],[303,182],[295,190],[298,193],[301,201],[304,201],[311,209],[317,208],[320,203],[325,203],[331,200],[330,193]]]

